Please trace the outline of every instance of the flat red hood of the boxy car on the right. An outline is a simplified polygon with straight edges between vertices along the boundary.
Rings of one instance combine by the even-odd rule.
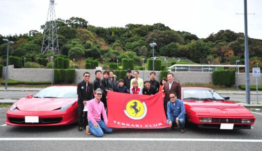
[[[200,116],[245,116],[253,114],[240,104],[227,101],[184,101],[185,106],[193,108]]]

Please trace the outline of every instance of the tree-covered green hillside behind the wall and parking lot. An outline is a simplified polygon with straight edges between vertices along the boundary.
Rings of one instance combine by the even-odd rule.
[[[56,24],[60,55],[67,56],[71,64],[75,58],[79,66],[86,58],[99,59],[104,67],[109,62],[130,58],[135,60],[136,66],[141,66],[142,58],[152,57],[152,42],[157,43],[156,56],[186,57],[203,64],[208,61],[211,64],[235,64],[236,60],[244,64],[244,34],[231,30],[220,30],[200,39],[197,35],[174,31],[161,23],[103,28],[89,25],[82,18],[72,17],[69,20],[57,19]],[[44,27],[42,25],[41,29]],[[37,58],[48,59],[54,56],[51,50],[40,54],[43,34],[39,31],[31,30],[27,34],[9,36],[0,33],[0,39],[3,38],[14,41],[10,47],[11,56],[27,58],[33,62],[37,62]],[[262,66],[262,40],[249,38],[248,42],[250,67],[257,62]],[[0,64],[5,65],[6,53],[7,43],[0,40]]]

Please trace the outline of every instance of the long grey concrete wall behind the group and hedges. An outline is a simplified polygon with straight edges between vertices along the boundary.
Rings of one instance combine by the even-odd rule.
[[[3,77],[5,77],[5,69],[3,67]],[[93,82],[95,80],[95,70],[90,69],[76,69],[76,77],[75,83],[79,83],[83,80],[83,73],[90,72],[91,79],[90,81]],[[150,72],[151,71],[139,71],[140,78],[144,80],[150,79]],[[159,81],[159,74],[160,71],[156,72],[156,79]],[[175,80],[180,82],[181,84],[184,83],[205,83],[209,84],[212,83],[212,72],[191,72],[191,71],[179,71],[179,72],[172,72],[174,74]],[[8,68],[8,78],[18,81],[35,81],[35,82],[44,82],[44,81],[51,81],[51,74],[52,69],[36,69],[36,68],[14,68],[13,65],[9,65]],[[252,73],[249,74],[250,78],[250,85],[255,85],[255,78],[252,76]],[[238,73],[238,84],[244,85],[245,84],[245,73]],[[262,85],[262,77],[258,78],[258,85]]]

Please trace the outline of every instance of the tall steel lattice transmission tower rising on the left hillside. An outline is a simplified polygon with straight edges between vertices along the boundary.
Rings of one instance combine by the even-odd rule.
[[[44,33],[44,37],[43,37],[41,53],[44,54],[46,50],[52,50],[53,53],[59,54],[58,36],[57,36],[55,11],[54,11],[54,0],[50,0],[47,19],[46,19],[43,33]]]

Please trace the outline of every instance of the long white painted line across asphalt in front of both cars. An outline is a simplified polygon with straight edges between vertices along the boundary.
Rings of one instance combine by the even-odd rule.
[[[100,141],[227,141],[262,142],[262,139],[201,139],[201,138],[0,138],[3,140],[100,140]]]

